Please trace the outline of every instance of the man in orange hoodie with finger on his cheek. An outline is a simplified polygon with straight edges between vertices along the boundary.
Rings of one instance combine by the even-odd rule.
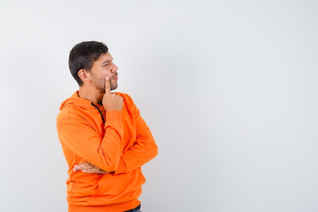
[[[140,211],[141,166],[157,155],[130,96],[112,93],[118,67],[101,42],[73,47],[69,67],[79,90],[62,102],[57,133],[69,165],[69,212]]]

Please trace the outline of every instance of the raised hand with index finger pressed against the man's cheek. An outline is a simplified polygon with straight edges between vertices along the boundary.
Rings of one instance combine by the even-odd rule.
[[[106,111],[109,111],[109,110],[121,111],[122,105],[123,105],[122,97],[110,91],[110,78],[109,76],[107,76],[105,78],[105,94],[103,97],[103,106],[105,110]]]

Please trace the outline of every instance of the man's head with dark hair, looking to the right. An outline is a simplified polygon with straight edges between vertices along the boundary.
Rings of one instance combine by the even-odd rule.
[[[118,67],[112,62],[108,47],[101,42],[89,41],[75,45],[69,57],[72,76],[82,86],[92,82],[101,93],[105,92],[105,77],[110,77],[111,89],[117,88]]]

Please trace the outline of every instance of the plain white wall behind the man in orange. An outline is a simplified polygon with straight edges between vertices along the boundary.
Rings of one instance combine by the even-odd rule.
[[[71,48],[105,42],[149,125],[142,210],[318,210],[316,1],[0,1],[0,211],[67,211]]]

